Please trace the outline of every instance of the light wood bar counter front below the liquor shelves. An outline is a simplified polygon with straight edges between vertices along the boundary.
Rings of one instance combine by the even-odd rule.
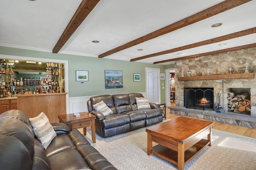
[[[17,94],[18,109],[30,118],[44,112],[50,123],[59,122],[58,115],[66,114],[66,94]]]

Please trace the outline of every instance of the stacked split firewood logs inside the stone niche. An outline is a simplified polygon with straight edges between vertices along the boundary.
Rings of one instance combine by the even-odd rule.
[[[248,99],[249,98],[249,99]],[[250,101],[250,94],[248,92],[244,92],[242,94],[236,95],[234,92],[228,92],[228,111],[234,111],[235,113],[248,113],[251,112],[251,105],[249,104]],[[239,111],[239,107],[245,106],[244,111]]]

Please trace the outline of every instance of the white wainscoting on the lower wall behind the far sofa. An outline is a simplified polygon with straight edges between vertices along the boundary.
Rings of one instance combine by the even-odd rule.
[[[146,97],[146,92],[141,92],[141,94]],[[99,95],[95,95],[99,96]],[[86,111],[87,109],[87,101],[90,100],[90,97],[92,96],[82,96],[82,97],[72,97],[69,98],[69,113],[77,113]],[[69,114],[67,113],[67,114]]]

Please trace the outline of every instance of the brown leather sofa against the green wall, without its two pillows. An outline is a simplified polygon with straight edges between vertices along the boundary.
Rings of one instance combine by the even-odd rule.
[[[157,104],[150,103],[150,109],[138,110],[136,97],[144,98],[140,93],[91,97],[87,101],[87,107],[88,112],[96,116],[96,133],[104,138],[112,137],[163,121],[162,109]],[[93,105],[101,101],[113,114],[105,117],[101,112],[94,110]]]

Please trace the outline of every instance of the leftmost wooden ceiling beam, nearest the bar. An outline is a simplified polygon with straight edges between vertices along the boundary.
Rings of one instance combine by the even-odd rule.
[[[64,46],[64,44],[68,41],[84,19],[90,14],[99,1],[100,0],[82,0],[74,16],[60,36],[60,39],[56,43],[54,49],[52,49],[52,53],[58,53],[60,51],[60,49]]]

